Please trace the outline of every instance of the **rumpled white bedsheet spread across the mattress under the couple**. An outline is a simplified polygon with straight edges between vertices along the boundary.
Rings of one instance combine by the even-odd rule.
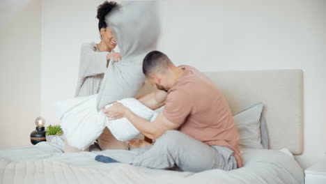
[[[33,182],[42,177],[52,178],[56,183],[304,183],[300,166],[281,151],[242,150],[244,167],[233,171],[212,169],[196,174],[123,163],[104,164],[94,160],[98,154],[127,163],[139,154],[139,149],[62,153],[58,146],[42,142],[36,146],[0,151],[0,183],[17,183],[21,178]]]

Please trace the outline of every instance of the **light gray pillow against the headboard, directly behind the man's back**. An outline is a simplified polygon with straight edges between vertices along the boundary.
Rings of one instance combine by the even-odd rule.
[[[249,109],[233,116],[238,128],[240,148],[262,149],[260,118],[263,111],[263,103],[258,103]]]

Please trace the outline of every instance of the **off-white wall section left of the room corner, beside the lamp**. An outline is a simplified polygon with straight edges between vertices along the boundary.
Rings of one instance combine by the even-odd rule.
[[[0,1],[0,149],[31,145],[40,114],[40,1]]]

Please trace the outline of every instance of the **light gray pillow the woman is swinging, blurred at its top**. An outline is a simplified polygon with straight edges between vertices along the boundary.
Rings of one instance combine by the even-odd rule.
[[[143,58],[155,49],[160,35],[156,1],[125,3],[105,17],[121,52],[121,61],[109,62],[97,96],[97,109],[132,98],[143,85]]]

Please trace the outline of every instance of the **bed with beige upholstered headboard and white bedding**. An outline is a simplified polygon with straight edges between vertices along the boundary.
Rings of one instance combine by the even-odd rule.
[[[233,114],[256,102],[265,104],[270,149],[242,148],[244,167],[199,173],[147,169],[126,164],[141,149],[63,153],[62,146],[41,142],[0,151],[0,183],[304,183],[293,158],[303,151],[302,70],[205,74],[222,90]],[[137,96],[151,90],[146,84]],[[98,154],[125,164],[97,162]]]

